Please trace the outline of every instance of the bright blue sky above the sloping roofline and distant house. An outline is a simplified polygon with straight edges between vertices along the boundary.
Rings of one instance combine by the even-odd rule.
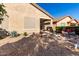
[[[79,3],[37,3],[55,18],[71,16],[79,20]]]

